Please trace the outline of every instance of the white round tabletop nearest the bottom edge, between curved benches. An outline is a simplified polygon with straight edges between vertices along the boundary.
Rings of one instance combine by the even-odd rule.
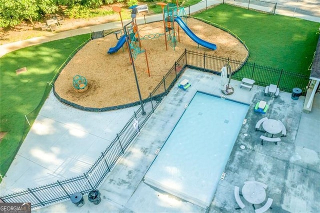
[[[246,201],[252,204],[260,204],[265,200],[266,194],[261,184],[250,181],[243,185],[242,196]]]

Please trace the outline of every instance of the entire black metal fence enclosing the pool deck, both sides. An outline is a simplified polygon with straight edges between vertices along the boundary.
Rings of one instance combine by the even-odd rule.
[[[0,197],[1,200],[4,202],[31,202],[34,209],[67,200],[74,192],[85,194],[98,188],[160,104],[162,97],[176,83],[185,67],[220,74],[220,69],[225,63],[229,63],[232,67],[233,79],[240,80],[242,77],[249,77],[253,78],[256,84],[262,86],[272,83],[277,84],[281,90],[289,91],[293,85],[293,87],[305,88],[308,82],[308,77],[304,75],[261,66],[255,63],[245,63],[244,61],[218,57],[203,52],[185,50],[163,76],[159,84],[150,92],[149,97],[143,100],[146,114],[142,115],[141,107],[139,107],[116,134],[108,147],[101,152],[88,171],[76,177],[57,180],[43,186],[27,188],[19,192],[7,194]],[[288,81],[290,82],[288,83]]]

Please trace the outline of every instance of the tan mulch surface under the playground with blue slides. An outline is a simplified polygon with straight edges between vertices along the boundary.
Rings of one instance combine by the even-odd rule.
[[[215,43],[217,49],[211,50],[198,46],[181,28],[179,28],[179,42],[174,49],[168,43],[168,50],[166,50],[164,35],[154,39],[141,39],[141,46],[146,50],[150,72],[149,76],[145,54],[138,54],[134,65],[142,98],[149,96],[149,92],[160,82],[185,49],[235,60],[246,58],[248,52],[243,44],[229,33],[194,18],[188,18],[187,25],[201,39]],[[163,33],[163,22],[138,25],[138,30],[140,37]],[[134,73],[125,44],[123,49],[107,54],[107,50],[116,43],[117,39],[111,33],[102,38],[93,39],[82,47],[55,81],[54,87],[57,94],[78,105],[95,108],[138,101]],[[81,75],[87,79],[87,86],[81,92],[73,87],[75,75]]]

